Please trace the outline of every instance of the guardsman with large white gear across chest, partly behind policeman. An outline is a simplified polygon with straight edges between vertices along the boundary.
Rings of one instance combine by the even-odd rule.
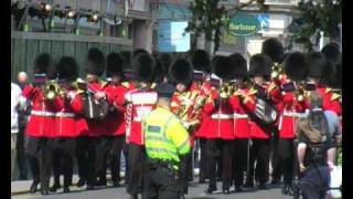
[[[158,94],[152,88],[154,60],[148,53],[139,53],[132,61],[135,83],[125,94],[126,139],[128,143],[127,192],[137,198],[142,186],[143,134],[141,122],[156,108]]]

